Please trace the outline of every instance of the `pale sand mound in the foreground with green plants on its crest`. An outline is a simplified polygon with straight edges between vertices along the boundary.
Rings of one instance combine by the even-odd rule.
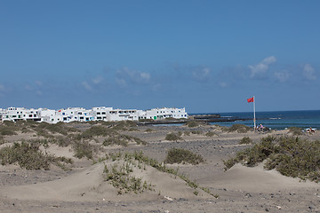
[[[114,163],[100,162],[68,177],[50,182],[4,187],[1,194],[13,199],[36,201],[135,201],[164,197],[167,199],[212,197],[201,189],[191,188],[180,177],[174,177],[151,166],[144,166],[143,169],[133,167],[132,176],[140,177],[142,181],[152,185],[152,190],[139,193],[139,196],[135,196],[134,192],[118,194],[118,189],[107,182],[103,174],[105,165],[111,168]]]

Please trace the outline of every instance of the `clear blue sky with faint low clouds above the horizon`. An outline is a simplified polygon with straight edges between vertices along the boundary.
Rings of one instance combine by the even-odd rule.
[[[320,109],[320,1],[2,0],[0,108]]]

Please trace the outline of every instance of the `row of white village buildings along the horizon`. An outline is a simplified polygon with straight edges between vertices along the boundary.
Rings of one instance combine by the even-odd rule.
[[[90,122],[90,121],[139,121],[142,119],[163,120],[165,118],[188,118],[185,108],[163,107],[148,110],[113,109],[100,106],[85,109],[68,107],[66,109],[27,109],[24,107],[0,108],[0,121],[36,121],[36,122]]]

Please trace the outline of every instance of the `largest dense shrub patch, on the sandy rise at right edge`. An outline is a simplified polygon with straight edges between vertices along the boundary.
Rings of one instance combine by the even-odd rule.
[[[288,177],[320,181],[320,142],[298,137],[267,137],[225,161],[225,170],[237,162],[252,167],[267,160],[264,168]]]

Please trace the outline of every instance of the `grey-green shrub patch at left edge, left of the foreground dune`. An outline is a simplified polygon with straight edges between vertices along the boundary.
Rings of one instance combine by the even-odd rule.
[[[2,165],[18,163],[26,170],[49,170],[51,164],[66,169],[71,159],[65,157],[54,157],[44,154],[39,147],[39,141],[22,141],[14,143],[13,146],[6,146],[0,150],[0,161]]]

